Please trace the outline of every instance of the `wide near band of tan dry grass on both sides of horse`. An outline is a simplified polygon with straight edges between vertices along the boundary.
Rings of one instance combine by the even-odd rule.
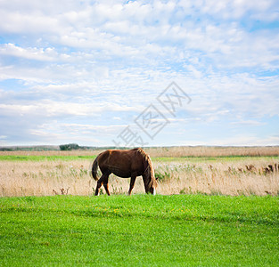
[[[160,178],[158,193],[207,193],[224,195],[278,195],[279,172],[265,171],[275,161],[257,158],[237,162],[154,162]],[[247,167],[254,166],[250,171]],[[0,161],[0,196],[92,195],[88,161]],[[125,193],[129,179],[110,176],[112,194]],[[140,177],[134,193],[144,193]]]

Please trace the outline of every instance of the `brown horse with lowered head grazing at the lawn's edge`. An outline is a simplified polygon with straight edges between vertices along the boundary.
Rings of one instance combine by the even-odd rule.
[[[98,166],[102,176],[97,178]],[[109,175],[115,174],[122,178],[131,177],[128,195],[131,194],[136,176],[143,176],[144,189],[146,193],[156,194],[157,181],[155,179],[151,158],[142,149],[134,150],[106,150],[95,158],[92,166],[92,176],[97,182],[94,195],[98,196],[103,185],[107,194],[111,193],[108,187]]]

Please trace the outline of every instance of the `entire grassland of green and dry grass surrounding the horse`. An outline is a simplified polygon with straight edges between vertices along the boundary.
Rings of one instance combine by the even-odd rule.
[[[0,265],[277,265],[278,147],[146,151],[157,196],[93,197],[99,150],[0,152]]]

